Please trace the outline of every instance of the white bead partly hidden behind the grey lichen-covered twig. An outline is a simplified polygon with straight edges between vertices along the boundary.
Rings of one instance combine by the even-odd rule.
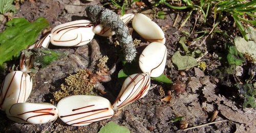
[[[123,21],[124,24],[127,24],[129,21],[133,19],[133,17],[134,17],[134,14],[129,13],[121,16],[120,19]],[[102,24],[95,26],[95,28],[93,29],[93,32],[101,36],[112,36],[115,34],[115,32],[112,31],[110,27],[104,27]]]

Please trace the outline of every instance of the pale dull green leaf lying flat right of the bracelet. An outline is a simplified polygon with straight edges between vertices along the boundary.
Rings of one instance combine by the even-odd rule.
[[[178,70],[190,69],[197,65],[197,59],[188,55],[181,55],[179,51],[172,56],[172,61],[177,65]]]

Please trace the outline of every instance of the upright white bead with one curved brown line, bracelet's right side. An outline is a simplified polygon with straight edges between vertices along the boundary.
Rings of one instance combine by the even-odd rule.
[[[151,77],[160,76],[165,68],[167,48],[160,42],[151,42],[139,57],[139,66],[143,73],[150,73]]]

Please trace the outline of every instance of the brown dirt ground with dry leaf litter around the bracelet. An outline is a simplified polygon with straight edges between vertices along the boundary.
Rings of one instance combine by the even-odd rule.
[[[68,21],[88,19],[86,13],[84,13],[85,6],[106,3],[108,2],[98,0],[93,2],[78,0],[25,1],[19,7],[16,7],[17,13],[14,16],[25,17],[29,21],[33,21],[40,16],[45,17],[49,21],[50,28],[54,28]],[[151,8],[150,2],[146,1],[144,4],[136,5],[134,3],[126,10],[126,13],[138,13]],[[106,5],[105,7],[120,13],[120,10],[117,8],[114,10],[113,6]],[[216,46],[223,45],[220,36],[212,35],[195,41],[191,40],[191,44],[200,47],[202,51],[208,51],[201,58],[207,64],[205,71],[202,71],[197,66],[186,71],[178,71],[170,57],[178,50],[177,42],[184,35],[184,31],[191,32],[195,20],[189,19],[185,26],[178,30],[186,14],[185,11],[176,12],[166,7],[156,8],[156,10],[166,12],[164,19],[148,14],[152,16],[153,21],[165,33],[165,45],[168,54],[164,74],[173,81],[180,80],[186,83],[187,87],[184,93],[171,95],[172,99],[162,101],[161,99],[166,98],[172,85],[152,81],[152,86],[154,87],[148,94],[144,98],[124,107],[119,116],[79,127],[69,126],[59,119],[53,123],[38,125],[14,123],[8,120],[4,112],[1,112],[0,132],[98,132],[109,121],[125,126],[131,132],[253,132],[256,129],[255,109],[242,108],[241,101],[236,98],[237,92],[232,91],[232,88],[225,87],[221,84],[221,81],[211,75],[211,72],[220,66],[220,61],[215,55],[215,52],[221,49],[221,47]],[[178,23],[174,25],[176,18],[178,18]],[[230,21],[228,23],[232,24]],[[131,25],[129,24],[128,26]],[[1,28],[3,30],[3,25],[1,25]],[[225,25],[220,25],[219,28],[225,28]],[[235,33],[235,30],[229,30],[228,32]],[[141,39],[134,32],[133,36]],[[89,45],[78,48],[49,46],[49,49],[67,52],[68,56],[53,62],[44,69],[40,69],[35,74],[31,74],[34,87],[27,102],[50,102],[53,93],[60,89],[60,84],[65,82],[64,79],[66,77],[70,74],[75,74],[79,69],[88,68],[94,71],[95,61],[106,55],[109,57],[109,61],[106,63],[108,68],[111,69],[114,64],[116,65],[116,70],[111,75],[112,80],[102,83],[104,88],[112,95],[104,97],[107,97],[113,103],[121,88],[121,85],[117,83],[117,73],[122,68],[120,61],[117,59],[118,49],[113,44],[114,39],[95,35]],[[142,40],[140,45],[143,46],[147,43]],[[82,63],[78,63],[78,61]],[[8,69],[10,71],[11,67]],[[8,71],[1,74],[1,82]],[[174,93],[174,91],[172,92]],[[216,123],[207,124],[210,123],[211,116],[215,111],[219,112],[213,120]],[[184,116],[181,119],[182,121],[171,121],[180,116]],[[180,128],[182,122],[187,122],[187,127],[202,126],[183,130]]]

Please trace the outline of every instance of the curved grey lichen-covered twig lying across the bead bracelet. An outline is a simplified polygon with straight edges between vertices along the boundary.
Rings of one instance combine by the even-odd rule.
[[[93,23],[98,23],[109,26],[118,37],[118,41],[123,47],[125,60],[131,62],[136,56],[136,49],[133,43],[132,36],[129,34],[129,29],[124,25],[118,15],[106,8],[90,5],[86,7],[86,13]]]

